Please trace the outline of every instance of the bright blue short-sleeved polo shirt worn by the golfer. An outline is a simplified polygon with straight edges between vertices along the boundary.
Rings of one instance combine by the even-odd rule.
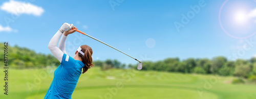
[[[53,81],[44,98],[71,98],[83,66],[82,61],[63,54],[60,65],[54,71]]]

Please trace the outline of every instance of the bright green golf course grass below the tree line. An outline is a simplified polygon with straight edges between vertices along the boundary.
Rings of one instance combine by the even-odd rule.
[[[43,98],[54,68],[9,69],[9,95],[0,98]],[[4,77],[4,72],[0,72]],[[255,98],[256,86],[231,84],[233,77],[153,71],[90,69],[82,74],[72,98]],[[1,85],[4,85],[3,80]],[[31,85],[30,87],[28,85]],[[3,90],[2,87],[1,90]]]

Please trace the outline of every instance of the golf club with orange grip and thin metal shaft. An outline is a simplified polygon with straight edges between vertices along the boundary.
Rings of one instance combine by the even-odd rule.
[[[125,54],[125,55],[127,55],[127,56],[129,56],[129,57],[131,57],[131,58],[133,58],[133,59],[135,59],[135,60],[137,60],[137,61],[139,61],[139,64],[138,64],[137,69],[138,69],[138,70],[141,70],[141,69],[142,69],[142,63],[141,63],[140,60],[138,60],[138,59],[136,59],[136,58],[134,58],[134,57],[132,57],[132,56],[130,56],[130,55],[128,55],[128,54],[126,54],[126,53],[124,53],[124,52],[122,52],[122,51],[120,51],[120,50],[118,50],[118,49],[116,49],[116,48],[114,48],[114,47],[112,47],[112,46],[110,46],[110,45],[108,45],[108,44],[106,44],[106,43],[104,43],[104,42],[98,40],[98,39],[95,39],[95,38],[93,38],[92,36],[89,36],[89,35],[85,34],[84,32],[78,30],[77,28],[72,28],[72,29],[76,29],[77,32],[80,32],[80,33],[83,34],[83,35],[86,35],[86,36],[88,36],[88,37],[90,37],[90,38],[92,38],[92,39],[94,39],[94,40],[96,40],[96,41],[99,41],[100,43],[103,43],[103,44],[105,44],[106,46],[109,46],[109,47],[111,47],[111,48],[113,48],[113,49],[115,49],[115,50],[117,50],[117,51],[119,51],[119,52],[121,52],[121,53],[123,53],[123,54]]]

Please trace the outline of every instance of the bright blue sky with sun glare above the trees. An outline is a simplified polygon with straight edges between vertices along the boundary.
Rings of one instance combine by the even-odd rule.
[[[10,9],[15,11],[19,6],[4,5],[13,2],[25,3],[0,2],[0,42],[8,41],[11,46],[27,47],[38,53],[50,53],[47,48],[50,39],[62,23],[68,22],[139,60],[211,59],[220,55],[229,59],[249,59],[256,54],[255,44],[248,43],[256,41],[256,2],[253,0],[31,0],[25,4],[33,6],[20,6],[18,14]],[[190,6],[200,7],[200,10],[194,11]],[[11,21],[6,22],[6,18]],[[175,23],[183,27],[178,30]],[[92,47],[94,60],[137,62],[78,32],[68,36],[67,53],[74,56],[83,44]]]

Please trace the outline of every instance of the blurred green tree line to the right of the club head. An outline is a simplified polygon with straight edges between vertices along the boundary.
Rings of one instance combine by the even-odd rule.
[[[228,60],[226,57],[218,56],[212,59],[207,58],[166,58],[164,60],[152,62],[143,61],[142,71],[162,71],[196,74],[216,74],[220,76],[237,76],[256,80],[256,58],[248,60],[237,59]],[[137,65],[134,65],[137,68]]]

